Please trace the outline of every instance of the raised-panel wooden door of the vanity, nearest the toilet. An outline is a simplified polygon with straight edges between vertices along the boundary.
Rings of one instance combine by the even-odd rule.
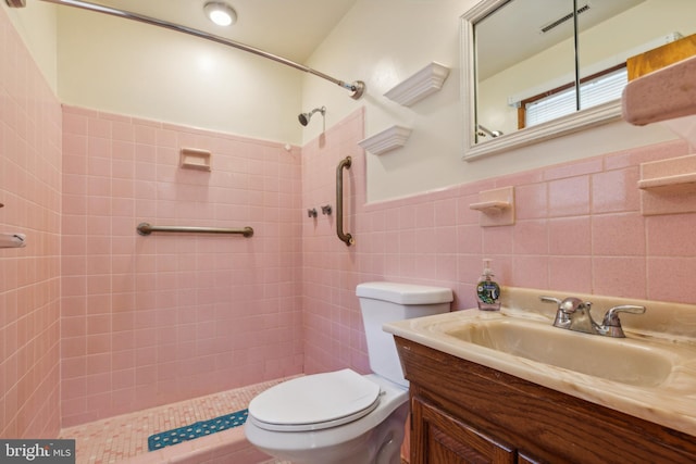
[[[507,464],[514,448],[473,429],[436,406],[413,398],[411,464]]]

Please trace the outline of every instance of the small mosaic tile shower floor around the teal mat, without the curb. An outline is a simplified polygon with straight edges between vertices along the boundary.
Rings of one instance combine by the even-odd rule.
[[[245,409],[258,393],[283,380],[271,380],[64,428],[60,438],[76,440],[77,464],[117,463],[148,453],[149,436]],[[264,464],[272,463],[281,464],[279,461]]]

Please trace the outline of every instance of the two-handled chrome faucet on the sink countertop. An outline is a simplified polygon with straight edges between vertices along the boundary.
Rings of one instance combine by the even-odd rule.
[[[602,335],[606,337],[625,337],[623,328],[621,328],[619,313],[645,313],[645,306],[621,304],[619,306],[613,306],[609,311],[607,311],[607,314],[605,314],[605,318],[602,319],[600,325],[597,324],[595,319],[592,318],[592,314],[589,314],[589,310],[592,308],[591,301],[583,301],[574,297],[569,297],[564,300],[560,300],[554,297],[539,298],[546,303],[558,304],[558,311],[556,312],[556,318],[554,319],[554,327],[582,331],[585,334]]]

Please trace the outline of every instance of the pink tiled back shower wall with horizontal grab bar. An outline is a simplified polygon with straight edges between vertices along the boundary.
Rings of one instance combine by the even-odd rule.
[[[299,149],[63,118],[63,425],[301,373]],[[178,167],[184,147],[212,171]],[[254,235],[142,237],[142,222]]]

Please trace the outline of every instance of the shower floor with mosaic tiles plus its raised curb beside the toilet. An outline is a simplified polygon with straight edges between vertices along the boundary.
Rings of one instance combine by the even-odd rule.
[[[223,463],[235,456],[245,464],[279,464],[264,456],[236,427],[158,451],[148,451],[148,437],[198,421],[244,410],[261,391],[285,378],[256,384],[207,397],[109,417],[61,430],[60,438],[75,439],[77,464],[107,463]]]

